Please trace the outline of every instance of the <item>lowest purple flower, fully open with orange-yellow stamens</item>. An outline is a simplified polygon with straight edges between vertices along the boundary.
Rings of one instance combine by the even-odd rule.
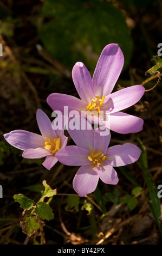
[[[119,179],[113,167],[134,163],[141,154],[141,150],[131,143],[107,148],[111,133],[101,136],[101,131],[102,127],[93,130],[88,122],[85,130],[69,129],[76,145],[66,146],[56,153],[61,163],[81,166],[73,180],[74,190],[80,197],[93,192],[99,178],[106,184],[116,185]]]

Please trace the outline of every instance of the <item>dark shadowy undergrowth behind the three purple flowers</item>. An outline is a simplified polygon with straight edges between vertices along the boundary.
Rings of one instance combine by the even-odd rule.
[[[23,193],[37,200],[39,194],[27,187],[40,185],[44,179],[60,193],[50,203],[55,218],[46,222],[43,228],[44,243],[95,244],[102,238],[102,233],[105,235],[113,227],[113,234],[104,244],[161,243],[161,234],[142,194],[133,210],[125,204],[115,208],[120,201],[114,204],[112,200],[104,199],[108,214],[102,221],[102,213],[95,205],[90,217],[86,210],[81,210],[86,198],[80,198],[78,212],[69,211],[66,208],[67,194],[75,194],[72,181],[77,167],[57,163],[49,171],[42,166],[43,159],[22,159],[22,152],[10,147],[3,139],[4,133],[17,129],[40,133],[36,109],[41,108],[50,118],[51,109],[46,102],[50,93],[78,97],[71,78],[74,64],[82,61],[93,75],[100,53],[107,44],[119,44],[125,56],[125,66],[114,90],[144,82],[150,77],[146,71],[155,64],[152,58],[157,56],[157,46],[162,41],[161,14],[160,0],[0,2],[0,42],[3,45],[3,56],[0,57],[1,244],[40,242],[40,234],[28,237],[22,233],[19,227],[22,209],[13,196]],[[145,84],[145,88],[152,88],[157,81]],[[145,101],[147,107],[142,105]],[[160,81],[153,90],[145,93],[142,102],[125,112],[144,119],[144,129],[129,135],[112,132],[111,145],[137,143],[140,138],[147,150],[148,172],[158,186],[162,182]],[[126,168],[148,192],[139,162]],[[102,196],[113,193],[114,189],[120,192],[120,199],[131,194],[134,185],[119,169],[116,171],[118,185],[99,182]],[[92,198],[95,201],[93,195]],[[97,237],[94,236],[96,233]]]

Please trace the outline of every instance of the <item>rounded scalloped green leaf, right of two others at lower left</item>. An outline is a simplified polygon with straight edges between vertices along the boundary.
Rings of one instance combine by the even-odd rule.
[[[53,210],[45,202],[38,203],[35,208],[35,213],[42,218],[42,220],[46,219],[47,221],[50,221],[54,218]]]

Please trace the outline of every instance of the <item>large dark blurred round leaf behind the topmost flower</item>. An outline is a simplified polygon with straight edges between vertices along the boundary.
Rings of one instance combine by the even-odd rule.
[[[133,41],[121,10],[99,0],[46,0],[42,4],[38,32],[46,50],[64,65],[80,61],[93,70],[101,51],[112,42],[119,44],[125,67],[131,59]],[[90,22],[89,22],[90,21]]]

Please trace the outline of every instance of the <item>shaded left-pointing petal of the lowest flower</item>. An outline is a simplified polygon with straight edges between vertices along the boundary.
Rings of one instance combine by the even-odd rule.
[[[59,162],[66,164],[67,166],[82,166],[91,164],[88,160],[90,151],[77,146],[67,146],[56,153],[56,157]]]

